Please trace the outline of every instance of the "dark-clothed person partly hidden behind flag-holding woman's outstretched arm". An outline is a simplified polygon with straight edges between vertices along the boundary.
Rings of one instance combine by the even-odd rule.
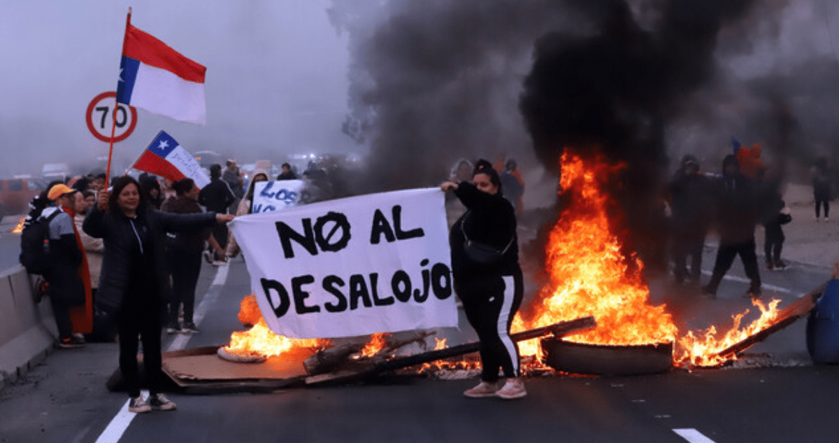
[[[198,186],[189,178],[172,183],[175,197],[164,201],[160,211],[175,214],[204,212],[198,204]],[[210,228],[169,234],[169,269],[172,275],[172,292],[169,298],[169,324],[167,334],[200,332],[193,321],[195,312],[195,286],[201,274],[201,251],[210,237]],[[184,308],[184,321],[180,323],[180,308]]]

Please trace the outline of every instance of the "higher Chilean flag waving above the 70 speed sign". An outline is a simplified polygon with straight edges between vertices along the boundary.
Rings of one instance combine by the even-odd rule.
[[[182,122],[204,124],[206,70],[151,34],[126,23],[117,102]]]

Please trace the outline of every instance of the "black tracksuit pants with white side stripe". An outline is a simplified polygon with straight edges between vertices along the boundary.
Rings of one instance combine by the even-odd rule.
[[[456,281],[455,291],[481,341],[481,380],[497,382],[499,368],[504,377],[519,377],[519,346],[510,326],[524,295],[522,274]]]

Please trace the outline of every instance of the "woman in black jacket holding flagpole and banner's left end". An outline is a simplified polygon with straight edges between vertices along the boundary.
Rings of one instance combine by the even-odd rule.
[[[169,214],[149,210],[137,180],[122,176],[112,191],[100,191],[97,205],[82,225],[91,237],[104,240],[102,276],[96,303],[116,316],[119,331],[119,368],[131,397],[128,410],[175,409],[160,393],[160,331],[166,284],[163,262],[166,232],[212,227],[233,216],[215,213]],[[149,400],[140,395],[137,381],[138,336],[143,340],[143,365],[149,378]]]

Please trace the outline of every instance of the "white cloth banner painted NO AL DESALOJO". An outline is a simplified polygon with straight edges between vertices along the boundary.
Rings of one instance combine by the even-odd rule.
[[[457,326],[444,195],[399,190],[239,216],[272,331],[297,338]]]

